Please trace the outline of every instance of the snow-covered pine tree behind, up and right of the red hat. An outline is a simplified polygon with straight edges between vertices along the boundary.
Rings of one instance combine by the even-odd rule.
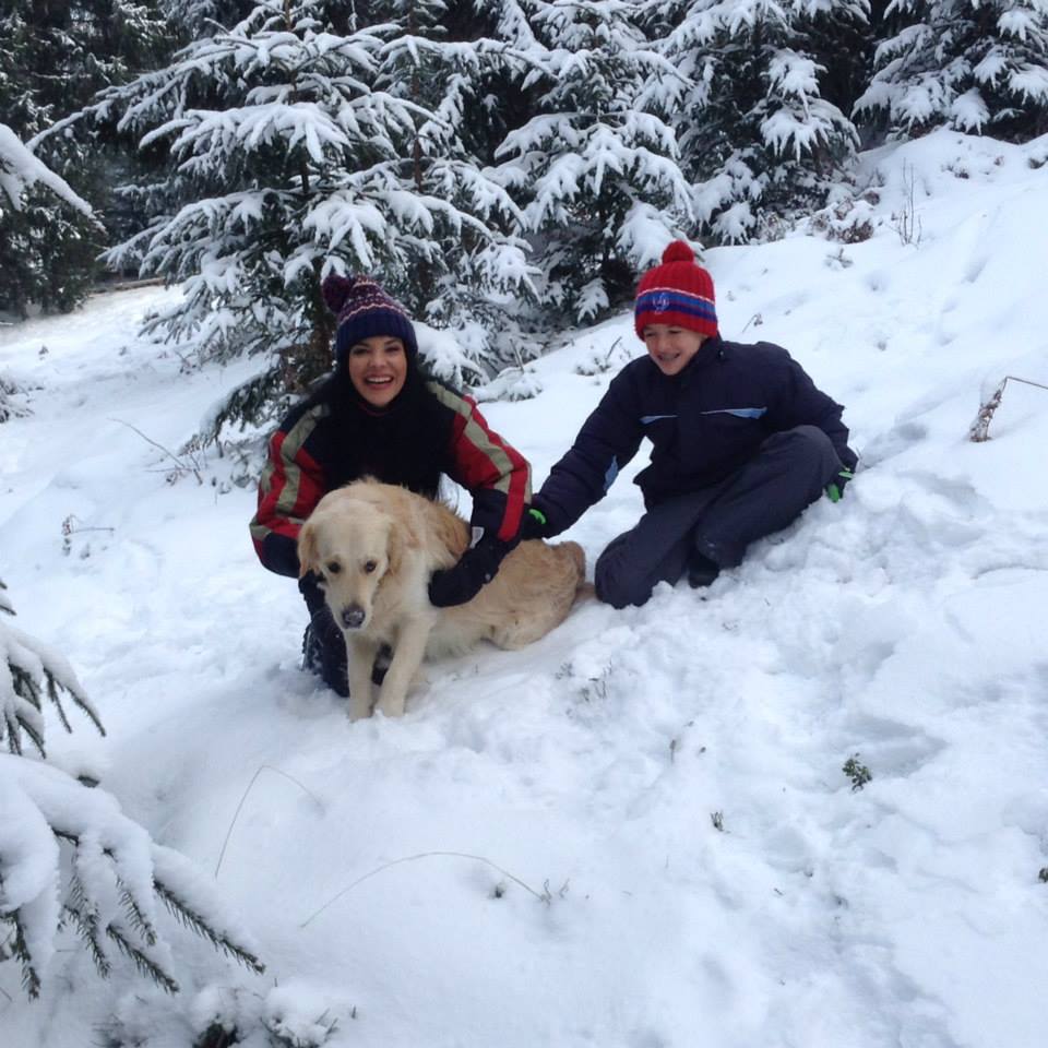
[[[823,92],[854,79],[842,38],[861,37],[867,0],[648,0],[666,59],[689,81],[675,122],[701,228],[722,242],[774,235],[846,176],[851,121]]]

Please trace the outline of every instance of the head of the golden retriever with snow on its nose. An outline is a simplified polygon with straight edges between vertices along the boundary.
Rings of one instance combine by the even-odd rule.
[[[371,622],[382,580],[396,571],[400,538],[376,505],[334,491],[321,499],[298,536],[299,575],[314,572],[335,622],[345,632]]]

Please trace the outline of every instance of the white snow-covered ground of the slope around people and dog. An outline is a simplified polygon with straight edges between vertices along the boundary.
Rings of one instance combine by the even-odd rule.
[[[253,489],[170,456],[252,364],[136,341],[156,289],[0,333],[32,388],[0,426],[0,577],[109,733],[51,724],[55,762],[102,769],[267,964],[168,924],[169,998],[68,941],[36,1004],[0,965],[4,1048],[187,1048],[216,1021],[253,1048],[1044,1044],[1048,390],[1010,381],[992,439],[967,432],[1005,376],[1048,385],[1046,157],[937,133],[866,157],[870,239],[707,252],[725,336],[846,405],[844,501],[704,595],[431,665],[401,720],[350,725],[299,670]],[[485,414],[540,483],[640,352],[628,315],[576,333]],[[645,457],[569,533],[591,561]]]

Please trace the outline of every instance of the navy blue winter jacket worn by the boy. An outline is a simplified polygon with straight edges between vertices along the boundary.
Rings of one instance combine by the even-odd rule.
[[[795,426],[818,426],[853,469],[857,457],[848,448],[843,410],[785,349],[769,342],[710,338],[672,377],[641,357],[611,380],[533,504],[546,515],[549,535],[571,527],[604,498],[645,437],[652,462],[635,483],[647,509],[717,484],[772,433]]]

